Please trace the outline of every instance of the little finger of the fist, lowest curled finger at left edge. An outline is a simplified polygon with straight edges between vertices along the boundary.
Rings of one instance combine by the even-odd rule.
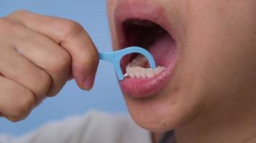
[[[29,89],[5,77],[0,77],[0,112],[4,117],[24,119],[35,107],[35,96]]]

